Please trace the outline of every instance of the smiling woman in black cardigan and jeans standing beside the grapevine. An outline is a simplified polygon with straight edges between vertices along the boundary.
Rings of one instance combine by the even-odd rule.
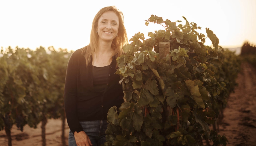
[[[101,145],[107,129],[107,112],[124,102],[116,58],[127,43],[123,13],[114,6],[94,17],[90,44],[70,57],[64,88],[69,146]]]

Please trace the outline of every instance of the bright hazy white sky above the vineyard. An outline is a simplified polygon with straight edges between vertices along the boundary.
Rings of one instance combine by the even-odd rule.
[[[0,0],[0,47],[39,46],[77,50],[89,44],[91,24],[103,7],[115,5],[124,13],[128,39],[135,33],[163,29],[150,23],[150,15],[210,28],[222,47],[240,47],[245,40],[256,44],[256,0]],[[207,39],[205,45],[211,45]]]

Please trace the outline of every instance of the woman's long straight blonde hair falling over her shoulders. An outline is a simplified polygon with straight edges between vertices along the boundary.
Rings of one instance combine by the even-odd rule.
[[[122,47],[128,43],[126,29],[124,27],[124,15],[121,11],[119,11],[115,6],[110,7],[104,7],[98,13],[95,15],[93,21],[92,21],[92,29],[91,29],[91,35],[90,35],[90,43],[88,46],[85,46],[82,48],[82,55],[85,57],[86,66],[91,64],[93,54],[97,52],[98,48],[98,34],[96,32],[98,27],[98,20],[100,16],[102,16],[103,13],[107,11],[113,11],[117,16],[119,20],[119,27],[118,27],[118,34],[112,41],[111,47],[114,49],[113,56],[119,57],[121,54],[123,54]]]

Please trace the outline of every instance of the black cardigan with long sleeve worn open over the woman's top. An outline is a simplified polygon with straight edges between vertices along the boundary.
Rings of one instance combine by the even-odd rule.
[[[64,87],[64,105],[70,130],[83,131],[79,121],[107,119],[108,109],[120,107],[124,102],[120,76],[116,75],[116,58],[109,65],[109,78],[104,92],[96,92],[93,87],[92,65],[86,67],[81,49],[71,55],[66,72]]]

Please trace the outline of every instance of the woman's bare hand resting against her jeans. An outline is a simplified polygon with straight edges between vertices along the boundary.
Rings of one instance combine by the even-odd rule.
[[[92,146],[90,138],[84,131],[80,131],[78,133],[75,131],[74,136],[77,146]]]

